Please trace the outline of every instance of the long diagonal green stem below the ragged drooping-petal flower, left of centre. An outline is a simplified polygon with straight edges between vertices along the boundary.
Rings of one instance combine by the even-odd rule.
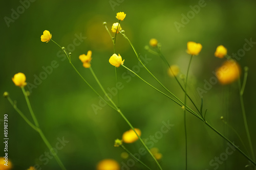
[[[109,101],[115,106],[115,110],[122,116],[122,118],[125,120],[125,122],[132,128],[132,130],[136,133],[136,135],[138,136],[140,142],[142,143],[143,147],[147,150],[147,152],[152,156],[152,158],[155,160],[155,162],[157,163],[158,167],[162,170],[162,167],[160,166],[160,164],[158,163],[158,161],[156,160],[156,158],[153,156],[153,154],[150,152],[150,150],[147,148],[146,144],[143,142],[143,140],[141,139],[141,137],[137,134],[137,132],[135,131],[134,127],[132,126],[132,124],[129,122],[129,120],[123,115],[123,113],[121,112],[121,110],[116,106],[116,104],[113,102],[113,100],[110,98],[109,94],[106,93],[105,89],[103,88],[103,86],[101,85],[101,83],[99,82],[98,78],[96,77],[92,67],[90,67],[90,70],[92,72],[93,77],[95,78],[95,80],[97,81],[98,85],[100,86],[101,90],[104,92],[105,96],[109,99]]]

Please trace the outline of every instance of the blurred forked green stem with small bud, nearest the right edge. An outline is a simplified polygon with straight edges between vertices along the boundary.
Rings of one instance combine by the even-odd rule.
[[[247,75],[248,75],[248,70],[245,69],[243,86],[241,86],[240,76],[239,76],[239,79],[238,79],[238,85],[239,85],[240,103],[241,103],[241,109],[242,109],[242,114],[243,114],[244,127],[245,127],[245,131],[246,131],[247,139],[248,139],[248,142],[249,142],[249,146],[250,146],[251,156],[252,156],[253,160],[255,160],[253,147],[252,147],[252,143],[251,143],[251,136],[250,136],[248,123],[247,123],[247,118],[246,118],[246,113],[245,113],[244,99],[243,99],[243,93],[244,93],[244,88],[245,88],[245,84],[246,84],[246,80],[247,80]]]

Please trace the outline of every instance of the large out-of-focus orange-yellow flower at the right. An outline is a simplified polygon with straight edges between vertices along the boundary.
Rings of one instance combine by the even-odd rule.
[[[219,82],[223,85],[236,81],[240,74],[240,65],[234,60],[225,61],[216,71],[216,76]]]

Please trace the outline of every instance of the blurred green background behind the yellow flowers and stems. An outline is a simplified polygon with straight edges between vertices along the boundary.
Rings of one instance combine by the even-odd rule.
[[[22,1],[23,2],[23,1]],[[113,2],[116,4],[113,5]],[[17,72],[23,72],[27,82],[33,83],[35,76],[39,76],[44,69],[55,60],[57,68],[42,80],[40,85],[32,89],[30,96],[32,107],[39,120],[39,125],[52,145],[58,138],[64,137],[69,143],[58,151],[58,155],[67,169],[95,169],[97,162],[111,158],[120,164],[127,162],[120,157],[121,148],[113,146],[116,138],[121,138],[129,126],[122,117],[108,106],[95,114],[92,105],[98,105],[99,98],[79,78],[68,60],[62,61],[58,57],[59,48],[52,42],[43,43],[40,36],[44,30],[49,30],[52,39],[61,46],[73,44],[76,35],[86,37],[72,52],[72,61],[82,75],[100,94],[99,86],[93,79],[89,69],[83,68],[78,59],[80,54],[92,50],[92,67],[95,74],[105,88],[115,86],[114,66],[109,64],[113,54],[113,44],[102,25],[117,22],[116,13],[123,11],[126,18],[121,21],[125,34],[134,43],[137,51],[152,60],[146,66],[173,93],[183,100],[184,94],[176,81],[169,78],[167,68],[160,58],[144,50],[151,38],[156,38],[162,44],[162,52],[171,64],[180,66],[184,74],[187,69],[189,55],[186,54],[188,41],[200,42],[203,45],[199,56],[194,57],[189,75],[189,94],[200,106],[200,95],[197,88],[203,88],[204,80],[214,76],[212,71],[221,65],[225,59],[214,57],[216,47],[220,44],[228,49],[228,54],[237,53],[243,48],[245,39],[256,41],[256,2],[249,1],[205,1],[205,7],[189,19],[189,23],[178,32],[174,22],[181,23],[181,14],[191,11],[189,6],[198,5],[199,1],[34,1],[30,7],[19,14],[14,22],[7,26],[4,17],[11,18],[12,11],[21,6],[19,1],[1,1],[1,52],[0,67],[1,93],[8,91],[11,99],[17,101],[17,106],[31,120],[24,96],[20,88],[16,87],[11,78]],[[113,34],[114,35],[114,34]],[[138,65],[136,56],[130,44],[117,35],[116,51],[120,53],[124,64],[133,68]],[[77,41],[78,42],[78,41]],[[71,46],[71,45],[70,45]],[[244,94],[248,125],[255,152],[255,46],[246,52],[239,61],[241,67],[249,67],[249,76]],[[163,169],[184,169],[184,125],[183,111],[174,102],[168,100],[136,77],[130,82],[123,79],[126,70],[118,69],[118,80],[124,88],[120,90],[119,106],[132,125],[140,128],[142,138],[148,138],[160,131],[162,122],[169,121],[174,127],[163,134],[154,143],[163,157],[160,161]],[[148,73],[141,69],[138,73],[148,82],[162,89]],[[238,131],[248,148],[248,141],[242,120],[239,101],[238,83],[222,86],[219,83],[203,94],[204,109],[208,108],[207,120],[217,130],[234,141],[244,151],[241,142],[232,130],[225,127],[220,116]],[[114,97],[117,101],[117,96]],[[189,103],[189,106],[191,104]],[[40,164],[42,169],[60,169],[57,162],[40,161],[39,157],[49,152],[40,136],[31,129],[20,117],[9,102],[0,98],[1,116],[8,114],[9,120],[9,159],[14,164],[13,169],[26,169],[31,165]],[[193,107],[194,108],[194,107]],[[1,122],[3,129],[3,122]],[[206,127],[195,116],[187,113],[188,133],[188,169],[214,169],[209,162],[225,153],[226,142]],[[3,131],[1,131],[1,136]],[[141,147],[139,141],[125,144],[132,153],[138,153]],[[1,155],[4,155],[4,145],[1,144]],[[45,158],[45,156],[43,156]],[[130,159],[130,158],[129,158]],[[157,169],[148,155],[142,158],[148,165]],[[234,152],[219,164],[218,169],[247,169],[248,161],[239,153]],[[130,169],[142,169],[139,163]],[[123,168],[125,169],[125,168]]]

